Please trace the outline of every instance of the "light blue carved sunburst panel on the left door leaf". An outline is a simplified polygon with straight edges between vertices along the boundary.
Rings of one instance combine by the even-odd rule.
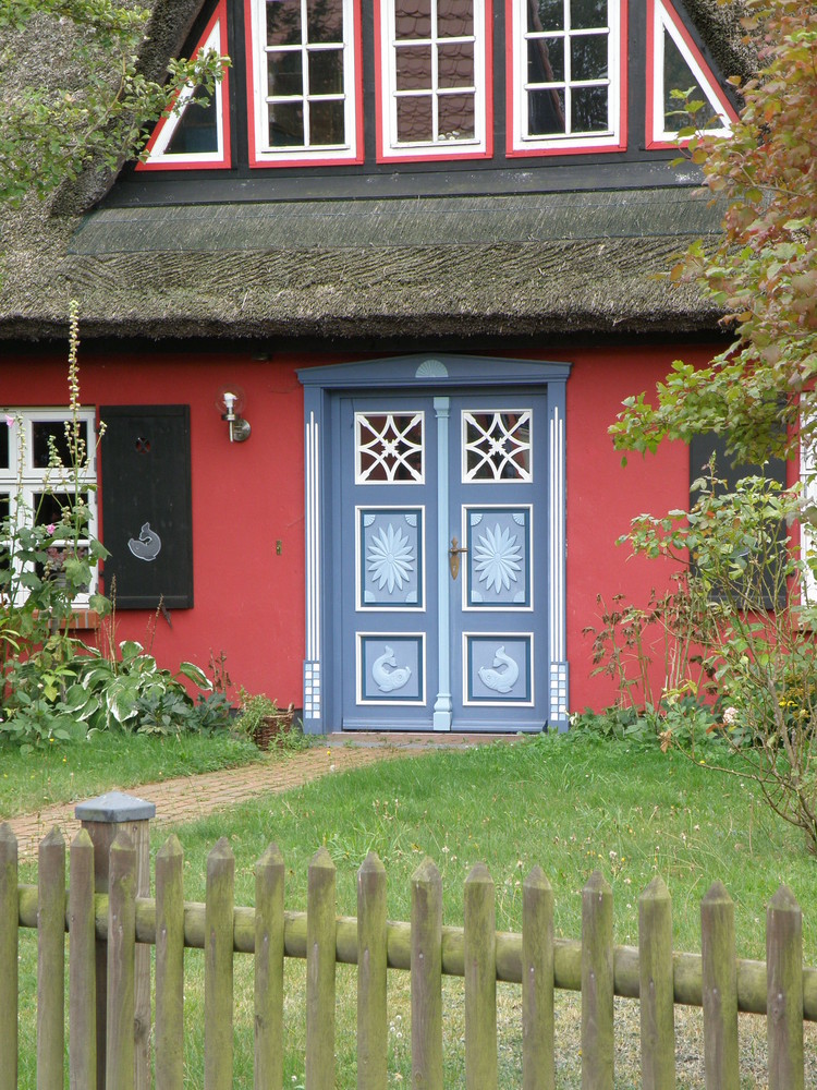
[[[423,608],[423,508],[358,508],[358,608]]]

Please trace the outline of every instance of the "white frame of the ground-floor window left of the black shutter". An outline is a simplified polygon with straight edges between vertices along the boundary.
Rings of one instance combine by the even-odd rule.
[[[51,469],[36,467],[34,464],[34,444],[32,425],[35,421],[70,421],[71,413],[65,409],[21,409],[10,408],[0,411],[0,427],[9,429],[9,465],[0,467],[0,493],[9,496],[9,516],[13,519],[15,510],[23,510],[24,513],[34,512],[34,496],[37,493],[49,488],[53,492],[73,493],[73,482],[66,480],[70,470]],[[8,421],[12,420],[12,424]],[[80,486],[86,492],[88,504],[88,536],[80,540],[80,545],[89,544],[90,540],[99,536],[99,518],[97,505],[97,456],[96,456],[96,411],[94,409],[81,409],[77,412],[77,420],[86,426],[87,434],[87,464],[80,474]],[[25,436],[21,437],[21,425],[25,429]],[[15,497],[20,493],[24,507],[16,508]],[[99,585],[99,570],[92,566],[92,577],[88,590],[77,594],[74,598],[74,606],[77,609],[87,609],[93,594],[97,593]],[[25,589],[21,589],[14,605],[21,605],[25,600]]]

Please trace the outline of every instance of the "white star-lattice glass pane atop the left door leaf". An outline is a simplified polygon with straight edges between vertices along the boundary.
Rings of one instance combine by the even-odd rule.
[[[425,420],[415,413],[355,413],[355,483],[423,484]]]

